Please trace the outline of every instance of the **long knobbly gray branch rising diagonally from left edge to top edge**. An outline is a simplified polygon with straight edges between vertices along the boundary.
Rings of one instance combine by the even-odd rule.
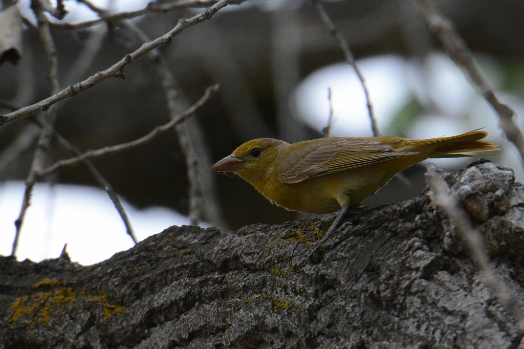
[[[144,45],[140,46],[134,52],[126,54],[124,58],[122,58],[121,60],[113,64],[113,66],[111,66],[110,68],[97,72],[96,74],[91,75],[91,77],[81,82],[72,84],[68,86],[68,88],[63,89],[60,92],[55,93],[51,95],[50,97],[47,97],[44,100],[41,100],[40,102],[28,105],[12,113],[0,115],[0,126],[3,126],[5,124],[8,124],[10,122],[13,122],[19,119],[23,119],[38,111],[48,110],[51,105],[57,102],[60,102],[64,99],[67,99],[69,97],[78,95],[79,93],[92,88],[94,85],[108,78],[111,78],[111,77],[122,78],[123,69],[126,66],[128,66],[128,64],[132,63],[137,58],[144,56],[144,54],[146,54],[147,52],[151,51],[154,48],[157,48],[162,45],[168,45],[174,36],[178,35],[180,32],[182,32],[183,30],[193,25],[196,25],[198,23],[201,23],[203,21],[206,21],[212,18],[221,8],[227,6],[232,1],[233,0],[220,0],[213,6],[206,8],[201,13],[189,19],[180,19],[178,21],[178,24],[173,29],[171,29],[169,32],[156,38],[155,40],[144,43]]]

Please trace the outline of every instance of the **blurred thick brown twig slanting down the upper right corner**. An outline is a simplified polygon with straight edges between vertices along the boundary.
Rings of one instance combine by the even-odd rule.
[[[481,91],[484,99],[494,108],[499,116],[499,127],[503,129],[506,138],[515,145],[524,162],[524,136],[514,121],[515,112],[504,103],[500,103],[497,96],[482,77],[481,72],[475,66],[471,52],[466,43],[453,28],[451,21],[438,13],[429,0],[419,0],[422,13],[431,31],[442,43],[450,58],[462,67],[471,80]]]

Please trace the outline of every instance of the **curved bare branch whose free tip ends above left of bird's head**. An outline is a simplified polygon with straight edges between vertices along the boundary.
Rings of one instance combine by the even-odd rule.
[[[96,149],[96,150],[88,150],[80,156],[66,159],[66,160],[57,161],[53,165],[49,166],[48,168],[42,169],[39,172],[39,175],[45,176],[46,174],[56,171],[60,167],[71,166],[71,165],[74,165],[75,163],[83,161],[84,159],[101,157],[107,154],[113,154],[115,152],[125,151],[125,150],[133,149],[138,146],[147,144],[149,141],[151,141],[155,137],[167,132],[170,128],[182,123],[186,118],[191,116],[191,114],[193,114],[198,108],[200,108],[205,102],[207,102],[210,99],[210,97],[218,89],[219,89],[219,84],[210,86],[209,88],[205,90],[204,95],[200,97],[200,99],[196,101],[191,107],[189,107],[188,110],[179,114],[177,118],[171,119],[167,124],[155,127],[147,135],[143,137],[137,138],[127,143],[118,144],[115,146],[103,147],[101,149]]]

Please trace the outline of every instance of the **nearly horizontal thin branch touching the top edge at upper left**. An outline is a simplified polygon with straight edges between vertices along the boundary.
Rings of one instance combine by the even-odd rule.
[[[80,23],[52,23],[53,27],[62,28],[62,29],[81,29],[88,28],[94,25],[100,24],[102,22],[115,23],[123,19],[136,18],[139,16],[147,15],[150,13],[166,13],[175,9],[181,8],[194,8],[194,7],[206,7],[212,6],[219,2],[219,0],[181,0],[176,1],[170,4],[155,4],[150,2],[146,7],[141,8],[135,11],[124,11],[118,12],[115,14],[107,13],[104,10],[104,15],[101,18],[86,20]],[[82,1],[82,3],[88,6],[91,10],[98,13],[98,7],[94,6],[90,2]],[[241,1],[231,1],[230,4],[241,3]],[[92,5],[92,6],[91,6]]]

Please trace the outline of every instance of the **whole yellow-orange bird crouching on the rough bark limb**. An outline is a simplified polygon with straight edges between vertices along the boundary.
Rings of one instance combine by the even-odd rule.
[[[329,137],[289,144],[258,138],[211,168],[234,172],[285,209],[328,213],[356,208],[398,172],[427,158],[457,158],[499,150],[487,132],[429,139]]]

